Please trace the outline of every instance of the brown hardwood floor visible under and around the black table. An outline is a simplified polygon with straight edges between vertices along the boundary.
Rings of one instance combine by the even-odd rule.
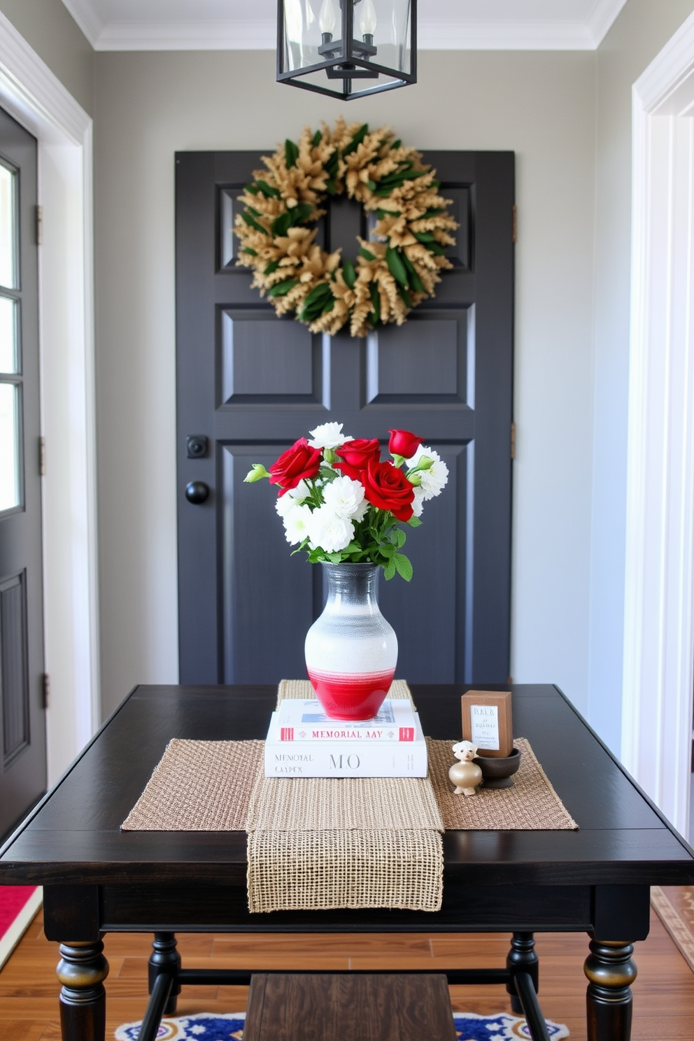
[[[115,1026],[140,1019],[147,1004],[149,935],[109,934],[104,939],[110,965],[106,981],[107,1037]],[[397,969],[502,966],[507,935],[427,936],[179,936],[187,968]],[[587,937],[538,935],[540,1000],[544,1014],[566,1023],[571,1041],[586,1041],[586,980],[583,962]],[[0,1041],[59,1041],[55,965],[57,944],[43,935],[41,913],[0,971]],[[650,936],[637,944],[639,977],[634,985],[633,1041],[691,1041],[694,1038],[694,973],[654,913]],[[245,987],[188,987],[179,1014],[238,1012],[246,1008]],[[452,987],[455,1010],[509,1011],[504,987]]]

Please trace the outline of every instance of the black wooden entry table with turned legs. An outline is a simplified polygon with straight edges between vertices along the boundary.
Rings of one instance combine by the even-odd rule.
[[[412,688],[426,734],[459,739],[465,689]],[[417,931],[512,933],[509,964],[524,963],[535,979],[532,934],[588,933],[589,1041],[628,1041],[633,943],[648,935],[649,887],[694,883],[694,852],[556,687],[512,690],[514,732],[530,740],[579,831],[446,832],[443,906],[433,914],[252,915],[243,832],[121,823],[172,738],[263,737],[275,689],[136,687],[0,850],[0,884],[44,886],[46,936],[61,943],[65,1041],[104,1037],[104,933],[154,933],[155,983],[180,966],[177,932]]]

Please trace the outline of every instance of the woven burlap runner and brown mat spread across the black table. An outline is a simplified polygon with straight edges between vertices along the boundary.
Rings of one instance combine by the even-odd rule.
[[[282,697],[307,697],[285,680]],[[391,697],[411,697],[395,681]],[[248,832],[253,912],[441,906],[441,831],[577,826],[528,741],[513,788],[453,794],[451,741],[429,745],[423,778],[265,778],[262,741],[172,740],[124,831]]]

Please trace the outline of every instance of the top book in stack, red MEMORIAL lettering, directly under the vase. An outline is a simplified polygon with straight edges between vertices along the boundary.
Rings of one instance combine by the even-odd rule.
[[[386,699],[372,719],[329,718],[315,699],[285,697],[277,710],[281,741],[414,741],[415,711],[409,699]]]

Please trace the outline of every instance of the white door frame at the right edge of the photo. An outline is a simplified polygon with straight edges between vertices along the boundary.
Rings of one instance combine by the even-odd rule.
[[[689,832],[694,683],[694,15],[633,87],[622,759]]]

